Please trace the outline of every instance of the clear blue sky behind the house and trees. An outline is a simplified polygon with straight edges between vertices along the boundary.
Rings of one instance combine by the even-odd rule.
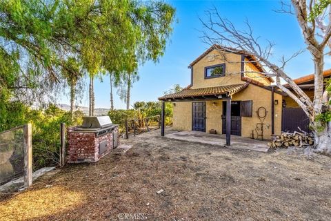
[[[239,29],[244,27],[247,18],[256,35],[261,40],[269,39],[274,46],[272,61],[277,63],[282,56],[290,56],[297,50],[305,48],[301,30],[292,15],[278,14],[273,10],[280,7],[279,1],[168,1],[176,8],[177,23],[170,37],[165,54],[157,64],[146,62],[139,66],[140,80],[133,85],[131,104],[137,101],[156,101],[157,97],[170,89],[174,84],[185,87],[190,84],[190,69],[188,64],[201,55],[208,45],[201,39],[202,30],[199,17],[206,19],[205,10],[216,6],[222,17],[228,18]],[[331,60],[325,58],[325,69],[331,67]],[[290,61],[285,67],[290,77],[296,78],[313,72],[314,66],[309,52],[305,52]],[[86,79],[88,83],[88,80]],[[94,81],[95,106],[110,107],[109,78],[103,82]],[[88,84],[86,84],[88,86]],[[60,103],[70,104],[67,95]],[[88,88],[80,106],[88,106]],[[114,107],[125,108],[114,91]]]

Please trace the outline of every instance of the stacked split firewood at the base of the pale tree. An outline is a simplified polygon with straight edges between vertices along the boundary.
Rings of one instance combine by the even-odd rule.
[[[314,144],[314,135],[312,133],[305,133],[304,131],[294,133],[281,133],[281,135],[274,137],[268,146],[271,148],[288,148],[289,146],[312,146]]]

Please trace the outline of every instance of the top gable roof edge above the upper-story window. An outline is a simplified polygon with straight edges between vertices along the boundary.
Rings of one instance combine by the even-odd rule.
[[[245,52],[243,50],[238,50],[238,49],[235,49],[235,48],[220,46],[218,44],[214,44],[214,45],[210,46],[210,48],[205,50],[205,52],[203,52],[203,54],[201,54],[199,57],[197,57],[197,59],[192,61],[191,64],[188,66],[188,68],[191,68],[192,66],[194,66],[194,64],[197,64],[198,61],[200,61],[201,59],[203,59],[203,57],[205,57],[210,52],[212,52],[212,50],[224,50],[226,52],[231,52],[231,53],[234,53],[234,54],[237,54],[237,55],[243,55],[249,61],[252,61],[251,64],[253,64],[255,67],[257,67],[257,69],[260,72],[265,73],[264,68],[261,66],[261,64],[259,63],[257,57],[255,57],[254,55],[250,55],[250,54],[248,54],[247,52]],[[269,81],[274,82],[274,80],[271,77],[267,77],[267,78],[269,79]]]

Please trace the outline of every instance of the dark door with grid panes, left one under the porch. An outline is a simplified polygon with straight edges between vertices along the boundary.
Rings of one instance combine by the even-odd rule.
[[[205,102],[192,102],[192,131],[205,132]]]

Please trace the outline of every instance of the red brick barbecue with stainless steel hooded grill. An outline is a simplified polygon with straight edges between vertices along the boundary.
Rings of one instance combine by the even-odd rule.
[[[82,126],[69,127],[68,163],[97,162],[118,146],[119,127],[110,117],[83,117]]]

